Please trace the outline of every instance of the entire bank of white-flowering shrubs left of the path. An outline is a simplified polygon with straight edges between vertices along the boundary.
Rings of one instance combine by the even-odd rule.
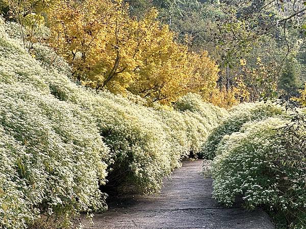
[[[162,179],[190,153],[196,155],[226,115],[205,103],[202,111],[149,108],[133,95],[85,89],[69,80],[69,66],[46,46],[34,44],[27,52],[14,26],[0,22],[5,228],[28,227],[40,217],[69,226],[79,212],[106,208],[106,194],[99,190],[106,183],[116,191],[159,190]]]

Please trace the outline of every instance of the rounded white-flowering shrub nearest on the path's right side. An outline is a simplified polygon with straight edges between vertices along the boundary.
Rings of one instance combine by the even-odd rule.
[[[282,215],[287,227],[306,223],[306,124],[268,118],[225,135],[212,162],[213,196],[232,206],[261,206]]]

